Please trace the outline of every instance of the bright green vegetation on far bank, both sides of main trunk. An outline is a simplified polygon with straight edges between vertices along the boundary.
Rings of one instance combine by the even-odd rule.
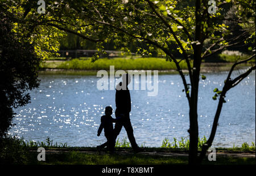
[[[204,62],[202,70],[208,65],[220,68],[222,70],[229,70],[230,64],[240,61],[246,58],[246,55],[235,55],[235,54],[220,54],[220,57],[216,59],[209,59],[210,62]],[[97,61],[92,62],[91,58],[76,58],[61,60],[62,58],[51,58],[49,61],[41,63],[40,69],[53,69],[53,70],[86,70],[86,71],[97,71],[97,70],[109,70],[110,66],[114,66],[115,70],[177,70],[174,62],[166,61],[163,58],[136,58],[132,56],[117,57],[117,58],[100,58]],[[180,62],[180,68],[182,70],[187,69],[185,61]],[[251,61],[253,62],[253,61]],[[254,61],[255,62],[255,61]],[[191,63],[192,65],[192,63]],[[241,65],[242,67],[250,66],[250,63]],[[208,69],[208,68],[207,68]],[[216,69],[214,69],[216,70]]]

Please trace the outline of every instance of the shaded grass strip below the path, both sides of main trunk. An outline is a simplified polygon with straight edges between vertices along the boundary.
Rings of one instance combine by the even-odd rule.
[[[28,164],[51,165],[171,165],[188,164],[186,156],[148,156],[143,154],[88,154],[77,151],[46,154],[46,161],[37,161],[38,153],[31,153]],[[216,161],[203,161],[206,165],[255,165],[255,158],[218,157]]]

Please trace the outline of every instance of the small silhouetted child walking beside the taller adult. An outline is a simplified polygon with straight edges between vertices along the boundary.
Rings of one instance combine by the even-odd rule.
[[[114,140],[114,130],[113,130],[113,122],[116,122],[117,119],[112,118],[113,109],[110,106],[106,106],[105,115],[101,117],[101,125],[98,128],[97,136],[100,136],[101,131],[104,128],[105,137],[107,139],[107,147],[110,152],[114,151],[115,140]],[[100,151],[101,148],[104,148],[105,145],[98,145],[97,149]]]

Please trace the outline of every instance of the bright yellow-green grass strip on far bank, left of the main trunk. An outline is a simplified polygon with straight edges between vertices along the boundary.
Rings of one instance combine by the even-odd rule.
[[[174,62],[162,58],[100,58],[94,63],[90,59],[72,59],[71,61],[45,62],[40,68],[56,68],[64,70],[176,70]],[[184,61],[180,62],[182,69],[187,68]]]

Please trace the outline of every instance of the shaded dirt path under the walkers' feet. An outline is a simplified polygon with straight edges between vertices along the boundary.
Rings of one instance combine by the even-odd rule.
[[[99,154],[96,149],[47,149],[46,154],[61,154],[65,152],[71,151],[78,151],[81,153],[88,153],[88,154]],[[32,150],[31,152],[37,152]],[[100,154],[108,154],[108,152],[101,151]],[[115,151],[114,154],[134,154],[133,151],[130,150],[118,150]],[[144,154],[148,156],[167,156],[167,157],[175,157],[175,156],[188,156],[188,152],[185,151],[142,151],[138,154]],[[255,158],[255,151],[252,152],[233,152],[233,151],[217,151],[216,157],[248,157],[248,158]]]

